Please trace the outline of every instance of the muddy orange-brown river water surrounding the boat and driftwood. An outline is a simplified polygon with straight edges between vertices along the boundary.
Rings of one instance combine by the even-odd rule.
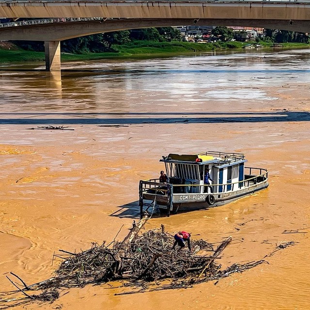
[[[158,176],[161,155],[218,150],[267,168],[270,186],[222,207],[152,218],[146,228],[164,223],[212,243],[232,235],[223,267],[296,245],[216,285],[121,296],[114,293],[126,289],[86,286],[24,309],[310,308],[309,50],[63,68],[0,68],[1,291],[12,289],[10,271],[27,283],[49,278],[54,250],[112,240],[124,224],[121,240],[138,217],[139,180]],[[26,130],[48,124],[74,131]]]

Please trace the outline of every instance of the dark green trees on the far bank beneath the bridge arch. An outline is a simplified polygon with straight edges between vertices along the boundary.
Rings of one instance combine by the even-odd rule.
[[[221,41],[227,42],[236,38],[236,32],[228,27],[215,27],[212,34]],[[263,40],[274,43],[309,43],[309,35],[294,31],[284,31],[275,29],[265,29],[262,38],[256,38],[257,41]],[[144,28],[134,30],[113,31],[106,33],[93,34],[78,38],[62,41],[62,52],[82,54],[82,53],[102,53],[118,52],[119,46],[133,45],[141,41],[151,42],[172,42],[185,41],[184,36],[176,28],[159,27]],[[26,50],[43,51],[43,42],[16,41],[17,46]]]

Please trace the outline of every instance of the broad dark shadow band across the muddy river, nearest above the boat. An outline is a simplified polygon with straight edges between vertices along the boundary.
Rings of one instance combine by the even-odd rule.
[[[87,113],[57,113],[51,115],[78,115],[83,116]],[[164,115],[190,115],[190,113],[161,113]],[[200,113],[195,113],[200,114]],[[2,118],[0,124],[18,124],[18,125],[43,125],[43,124],[97,124],[97,125],[136,125],[136,124],[216,124],[216,123],[277,123],[277,122],[309,122],[309,111],[277,111],[277,112],[256,112],[251,113],[235,112],[235,113],[204,113],[205,115],[229,115],[221,117],[144,117],[144,118],[95,118],[97,115],[106,115],[98,113],[88,113],[94,118],[39,118],[39,119],[25,119],[25,118]],[[237,115],[248,116],[237,116]],[[16,116],[16,115],[50,115],[50,113],[0,113],[0,115]],[[109,114],[113,115],[113,114]],[[118,114],[116,114],[118,115]],[[121,115],[135,115],[134,113],[122,113]],[[136,114],[138,115],[138,114]],[[154,115],[154,113],[144,113],[144,115]],[[236,116],[234,116],[236,115]]]

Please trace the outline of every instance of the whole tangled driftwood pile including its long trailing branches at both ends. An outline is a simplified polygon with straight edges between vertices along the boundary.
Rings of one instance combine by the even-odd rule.
[[[144,223],[143,223],[144,224]],[[132,294],[145,290],[173,289],[189,287],[203,281],[221,279],[233,272],[242,272],[263,261],[233,265],[221,271],[215,262],[217,256],[230,243],[226,239],[216,250],[204,240],[192,241],[193,251],[188,249],[172,250],[174,238],[161,230],[151,230],[138,235],[140,227],[133,227],[123,242],[113,245],[93,245],[92,248],[80,253],[55,255],[62,258],[55,277],[27,286],[19,293],[24,294],[23,300],[53,301],[59,297],[59,290],[70,287],[83,287],[89,283],[107,282],[109,280],[125,279],[124,286],[135,286],[138,290],[121,294]],[[200,249],[207,250],[210,255],[197,255]],[[160,284],[160,280],[170,279],[168,284]],[[154,282],[155,281],[155,282]],[[27,291],[40,291],[40,294],[30,295]],[[16,293],[16,292],[15,292]],[[5,301],[19,301],[15,298]],[[3,302],[3,300],[2,300]],[[20,304],[20,302],[18,303]],[[6,306],[12,307],[15,304]]]

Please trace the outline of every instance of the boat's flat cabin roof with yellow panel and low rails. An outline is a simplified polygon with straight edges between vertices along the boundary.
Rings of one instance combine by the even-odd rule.
[[[168,156],[162,156],[159,161],[165,163],[178,163],[178,164],[196,164],[205,165],[211,163],[217,163],[218,165],[227,165],[233,163],[245,162],[245,155],[241,153],[225,153],[207,151],[194,155],[184,154],[169,154]]]

